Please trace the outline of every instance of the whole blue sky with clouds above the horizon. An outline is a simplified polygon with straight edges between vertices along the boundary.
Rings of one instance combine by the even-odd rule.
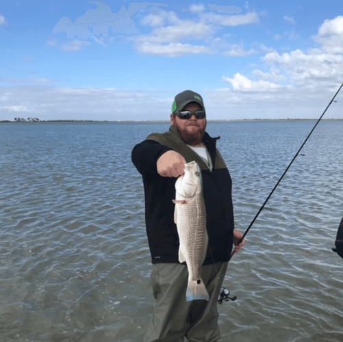
[[[0,1],[0,120],[319,118],[342,82],[341,1]]]

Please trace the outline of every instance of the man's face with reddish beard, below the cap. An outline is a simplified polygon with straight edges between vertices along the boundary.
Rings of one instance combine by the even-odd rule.
[[[191,102],[183,107],[182,111],[198,111],[201,109],[199,103]],[[179,135],[186,144],[190,146],[201,146],[201,140],[203,140],[206,129],[205,118],[197,119],[193,114],[192,118],[180,119],[179,116],[171,114],[170,122],[177,128]]]

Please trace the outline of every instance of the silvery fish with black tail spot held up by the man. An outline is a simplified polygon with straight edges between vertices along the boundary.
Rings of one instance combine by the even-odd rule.
[[[180,241],[179,262],[186,261],[188,267],[186,302],[208,301],[209,294],[199,270],[208,246],[201,170],[196,161],[191,161],[183,165],[183,171],[175,182],[176,194],[173,202],[174,222]]]

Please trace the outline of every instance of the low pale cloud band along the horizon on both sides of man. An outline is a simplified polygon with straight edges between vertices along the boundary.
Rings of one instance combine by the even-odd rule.
[[[245,88],[236,85],[236,90],[196,90],[204,98],[209,119],[318,118],[328,98],[338,89],[334,81],[330,81],[333,88],[309,84],[270,91],[269,86],[248,78],[240,79],[240,83],[245,83]],[[18,116],[40,120],[169,120],[175,94],[170,89],[0,87],[0,120],[14,120]],[[325,116],[342,118],[342,111],[332,107]]]

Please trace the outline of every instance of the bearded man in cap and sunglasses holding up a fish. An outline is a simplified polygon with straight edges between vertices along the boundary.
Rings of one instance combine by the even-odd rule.
[[[242,235],[233,230],[231,177],[205,132],[203,98],[186,90],[175,96],[168,132],[152,133],[132,150],[132,161],[142,174],[145,222],[153,263],[151,285],[155,305],[144,342],[214,342],[218,329],[218,294],[233,244],[238,251]],[[196,161],[201,168],[209,248],[200,273],[209,301],[186,302],[188,268],[179,263],[179,236],[174,223],[175,182],[183,164]]]

